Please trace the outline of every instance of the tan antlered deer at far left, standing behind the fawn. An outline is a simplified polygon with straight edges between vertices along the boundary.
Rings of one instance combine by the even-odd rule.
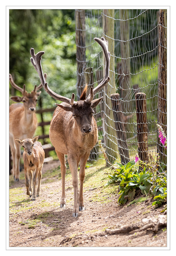
[[[44,74],[45,79],[47,74]],[[27,93],[26,85],[23,88],[19,87],[13,81],[12,75],[9,74],[9,80],[11,85],[21,92],[22,96],[11,96],[10,99],[14,104],[10,105],[9,108],[9,143],[12,155],[12,169],[11,173],[14,176],[15,181],[19,181],[19,161],[20,161],[20,146],[17,145],[15,139],[26,139],[33,138],[35,130],[38,125],[37,117],[35,114],[35,107],[37,99],[41,91],[37,92],[42,88],[42,84],[34,87],[31,93]],[[22,102],[22,103],[20,103]]]

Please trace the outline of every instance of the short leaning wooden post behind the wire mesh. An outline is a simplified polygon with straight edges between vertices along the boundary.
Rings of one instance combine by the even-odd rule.
[[[121,163],[129,162],[129,152],[127,145],[127,136],[125,132],[125,118],[123,115],[119,93],[111,94],[111,102],[114,113],[115,129],[117,134],[117,144],[121,156]]]

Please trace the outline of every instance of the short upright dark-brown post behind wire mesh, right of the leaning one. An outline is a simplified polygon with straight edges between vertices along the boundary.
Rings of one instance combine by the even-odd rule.
[[[147,104],[146,94],[136,94],[136,117],[137,117],[137,141],[139,158],[148,162],[148,141],[147,141]]]

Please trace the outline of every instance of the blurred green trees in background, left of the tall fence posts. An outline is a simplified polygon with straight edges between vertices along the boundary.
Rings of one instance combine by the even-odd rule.
[[[71,97],[76,92],[75,10],[20,10],[9,11],[10,73],[15,83],[26,84],[29,92],[40,84],[30,62],[30,48],[42,56],[43,72],[48,74],[49,87],[57,94]],[[55,105],[55,100],[41,88],[43,108]],[[11,94],[14,92],[10,85]],[[12,103],[12,102],[11,102]]]

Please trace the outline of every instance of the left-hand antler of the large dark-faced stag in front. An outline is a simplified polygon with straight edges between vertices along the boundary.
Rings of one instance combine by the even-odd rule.
[[[43,86],[43,88],[45,89],[45,91],[54,99],[59,100],[59,101],[63,101],[66,102],[70,105],[75,104],[74,99],[73,99],[73,95],[71,97],[71,100],[67,97],[63,97],[61,95],[56,94],[55,92],[53,92],[49,87],[48,84],[45,81],[45,78],[43,76],[43,71],[42,71],[42,67],[41,67],[41,56],[44,54],[45,52],[38,52],[37,54],[34,53],[34,49],[31,48],[30,50],[30,54],[31,54],[31,63],[33,64],[35,70],[37,71],[39,77],[40,77],[40,81],[41,84]]]

